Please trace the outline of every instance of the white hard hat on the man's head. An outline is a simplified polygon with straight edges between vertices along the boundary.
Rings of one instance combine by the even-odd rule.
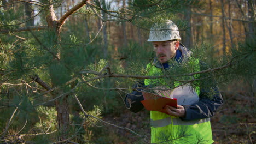
[[[168,20],[163,24],[161,26],[154,25],[150,29],[148,41],[181,40],[179,29],[172,21]]]

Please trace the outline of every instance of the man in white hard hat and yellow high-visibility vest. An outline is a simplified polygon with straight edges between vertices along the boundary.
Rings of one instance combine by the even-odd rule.
[[[181,38],[178,27],[172,21],[152,27],[148,41],[153,43],[157,59],[147,65],[147,75],[166,74],[167,71],[177,68],[177,64],[180,67],[185,64],[194,65],[196,71],[207,69],[205,64],[190,56],[191,52],[179,40]],[[202,76],[205,74],[194,75],[194,78],[199,79]],[[206,88],[206,83],[210,87]],[[194,84],[196,87],[191,88],[188,84],[180,86],[181,82],[170,78],[146,79],[136,84],[136,91],[126,95],[126,106],[132,112],[138,112],[143,109],[140,102],[144,100],[141,91],[146,91],[143,88],[174,88],[169,97],[177,99],[177,108],[166,105],[164,109],[168,115],[150,111],[152,143],[213,143],[210,117],[222,105],[223,99],[212,79],[195,81]],[[162,89],[157,93],[164,92]]]

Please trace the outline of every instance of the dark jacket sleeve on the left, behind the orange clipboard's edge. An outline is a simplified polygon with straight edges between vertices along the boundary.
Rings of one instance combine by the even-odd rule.
[[[133,88],[137,88],[137,87],[147,87],[147,86],[144,86],[144,81],[143,81],[143,82],[136,83],[136,85],[133,86]],[[131,94],[127,94],[125,97],[126,107],[127,109],[130,109],[130,111],[132,112],[141,111],[144,107],[141,103],[141,100],[144,100],[141,90],[142,89],[136,89],[135,91],[132,91]]]

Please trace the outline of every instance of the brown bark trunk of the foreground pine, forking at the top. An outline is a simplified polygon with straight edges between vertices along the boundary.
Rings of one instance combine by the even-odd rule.
[[[46,16],[46,21],[48,22],[48,28],[50,29],[50,31],[54,31],[56,34],[56,39],[54,40],[55,42],[55,47],[56,47],[56,51],[57,51],[57,58],[54,59],[56,63],[55,65],[53,65],[53,67],[59,67],[60,64],[60,41],[61,41],[61,37],[60,37],[60,32],[61,32],[61,27],[63,25],[63,23],[67,20],[67,18],[72,15],[75,11],[77,11],[79,8],[83,7],[83,5],[86,4],[87,1],[82,1],[80,3],[78,3],[77,5],[75,5],[73,8],[71,8],[70,10],[68,10],[58,21],[56,19],[55,16],[55,11],[54,11],[54,7],[53,5],[49,5],[49,14],[48,16]],[[51,1],[50,1],[51,3]],[[50,70],[50,75],[51,75],[51,83],[52,86],[51,87],[56,87],[56,81],[54,78],[56,76],[56,71],[51,71]],[[55,76],[53,76],[55,75]],[[52,93],[53,98],[57,97],[57,95],[60,95],[61,93],[64,93],[63,91],[57,91]],[[56,111],[57,111],[57,123],[58,123],[58,131],[59,131],[59,137],[58,137],[58,141],[63,141],[60,143],[66,143],[66,140],[68,139],[68,133],[69,133],[69,113],[68,113],[68,101],[67,101],[68,95],[63,97],[62,99],[58,99],[55,100],[55,107],[56,107]]]

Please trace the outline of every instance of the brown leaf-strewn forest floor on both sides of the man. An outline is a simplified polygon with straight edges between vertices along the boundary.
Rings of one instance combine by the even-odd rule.
[[[212,134],[215,144],[226,143],[256,143],[256,119],[253,96],[246,94],[222,94],[224,104],[214,117],[211,118]],[[110,143],[150,143],[149,111],[142,110],[138,113],[124,109],[122,113],[108,115],[107,122],[117,124],[135,131],[138,135],[126,129],[115,128],[108,125],[112,139]]]

